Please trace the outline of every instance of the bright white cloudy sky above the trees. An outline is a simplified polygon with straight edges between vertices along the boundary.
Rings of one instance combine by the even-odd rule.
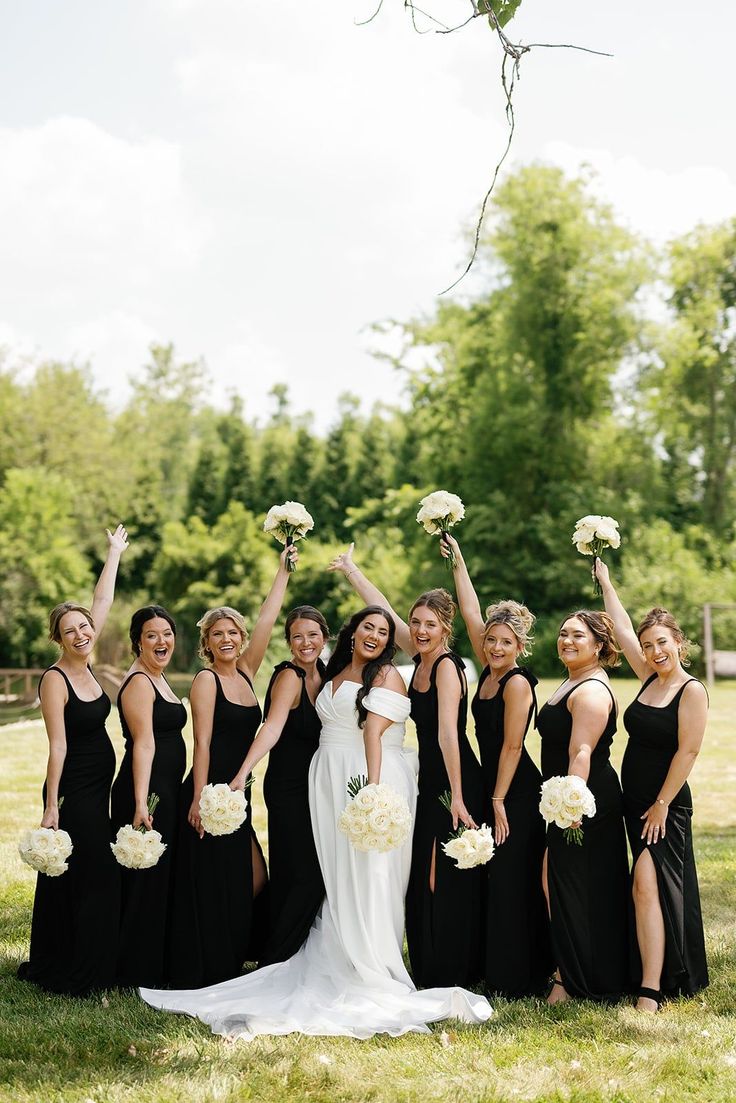
[[[120,401],[152,341],[250,416],[393,401],[373,322],[427,313],[505,142],[478,20],[401,0],[0,0],[0,344],[89,361]],[[424,0],[458,21],[467,0]],[[523,0],[510,164],[583,162],[652,239],[736,215],[736,9]]]

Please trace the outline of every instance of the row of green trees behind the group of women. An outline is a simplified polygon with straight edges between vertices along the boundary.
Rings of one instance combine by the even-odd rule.
[[[237,396],[215,408],[206,365],[171,345],[151,347],[117,411],[87,366],[0,363],[0,666],[53,657],[47,610],[88,600],[118,520],[131,547],[107,661],[126,661],[145,601],[174,613],[181,670],[207,607],[252,619],[277,556],[263,520],[286,499],[316,520],[292,602],[337,629],[354,598],[324,565],[355,539],[407,609],[450,580],[415,521],[439,488],[466,504],[456,535],[481,601],[515,597],[537,614],[540,673],[556,668],[561,618],[593,600],[570,543],[587,513],[620,523],[608,560],[632,612],[671,607],[700,641],[702,603],[736,601],[735,256],[736,219],[658,251],[588,180],[534,164],[495,193],[476,290],[391,323],[399,400],[366,413],[344,394],[327,432],[282,384],[265,421]],[[736,647],[736,618],[715,628],[716,646]]]

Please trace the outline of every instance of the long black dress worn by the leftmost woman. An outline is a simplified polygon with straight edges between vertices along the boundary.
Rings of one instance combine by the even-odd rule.
[[[66,872],[38,875],[30,960],[18,975],[47,992],[87,996],[115,984],[118,949],[120,875],[109,815],[115,751],[105,730],[110,700],[102,686],[94,700],[81,700],[66,674],[58,666],[50,670],[62,675],[68,692],[58,826],[68,832],[74,850]],[[43,799],[45,806],[45,784]]]

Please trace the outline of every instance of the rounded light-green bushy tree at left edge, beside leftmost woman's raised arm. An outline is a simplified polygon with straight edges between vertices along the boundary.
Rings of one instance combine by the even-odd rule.
[[[92,578],[76,540],[73,488],[41,467],[10,468],[0,493],[0,666],[45,664],[49,612],[89,602]]]

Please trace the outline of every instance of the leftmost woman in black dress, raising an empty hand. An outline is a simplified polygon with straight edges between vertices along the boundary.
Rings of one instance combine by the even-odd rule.
[[[115,983],[120,891],[109,846],[115,751],[105,729],[110,700],[89,658],[128,547],[122,525],[107,531],[107,544],[92,609],[64,601],[51,611],[49,635],[61,655],[39,683],[49,736],[41,826],[68,832],[74,850],[61,877],[38,876],[30,960],[18,975],[67,996],[87,996]]]

